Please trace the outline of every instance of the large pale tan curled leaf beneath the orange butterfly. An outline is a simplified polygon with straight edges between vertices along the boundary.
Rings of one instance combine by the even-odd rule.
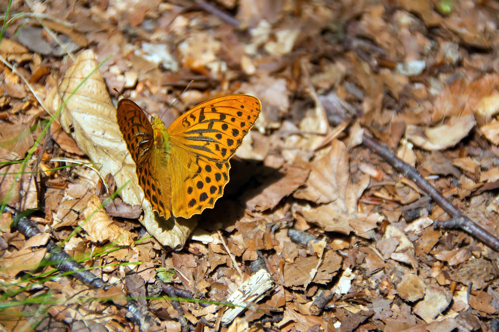
[[[58,86],[53,87],[45,99],[52,115],[76,90],[92,70],[97,67],[92,50],[81,52],[66,70]],[[116,123],[116,108],[107,93],[106,84],[99,71],[94,72],[56,114],[57,122],[69,133],[102,175],[111,173],[120,196],[131,205],[142,205],[142,224],[162,245],[182,248],[196,226],[194,219],[164,220],[156,217],[151,205],[144,200],[142,189],[137,185],[135,164],[128,153],[123,136]]]

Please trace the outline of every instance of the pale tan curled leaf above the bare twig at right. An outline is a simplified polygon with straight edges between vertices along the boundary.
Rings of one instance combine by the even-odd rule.
[[[465,138],[475,126],[473,115],[452,118],[449,123],[433,128],[409,125],[406,137],[415,145],[425,150],[443,150],[452,147]]]

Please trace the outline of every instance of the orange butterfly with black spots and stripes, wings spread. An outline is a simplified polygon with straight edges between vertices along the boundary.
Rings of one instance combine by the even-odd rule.
[[[213,208],[229,182],[229,159],[260,109],[253,96],[228,94],[193,107],[167,128],[130,99],[119,100],[118,126],[152,209],[169,219]]]

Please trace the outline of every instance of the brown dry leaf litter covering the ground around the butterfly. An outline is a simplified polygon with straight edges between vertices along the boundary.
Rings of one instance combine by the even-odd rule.
[[[2,302],[44,301],[42,315],[1,312],[3,328],[148,330],[122,309],[129,296],[154,318],[150,331],[496,331],[498,253],[434,229],[449,219],[443,208],[360,144],[372,133],[499,235],[499,7],[444,2],[13,1],[11,13],[34,15],[0,43],[15,64],[1,64],[0,193],[37,209],[42,235],[25,238],[2,215]],[[113,87],[167,125],[209,97],[261,100],[213,210],[158,222],[116,127]],[[54,114],[16,179],[11,162]],[[139,221],[129,205],[143,209]],[[48,234],[112,287],[28,280],[53,270]],[[164,289],[209,303],[169,301]],[[238,296],[248,309],[228,319],[219,303]]]

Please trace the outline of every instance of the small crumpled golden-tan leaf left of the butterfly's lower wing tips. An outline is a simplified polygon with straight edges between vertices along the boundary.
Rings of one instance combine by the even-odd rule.
[[[100,209],[100,200],[97,195],[90,198],[87,207],[83,210],[83,215],[87,220],[81,227],[87,232],[90,241],[109,241],[120,246],[134,247],[132,233],[114,223],[107,213]]]

